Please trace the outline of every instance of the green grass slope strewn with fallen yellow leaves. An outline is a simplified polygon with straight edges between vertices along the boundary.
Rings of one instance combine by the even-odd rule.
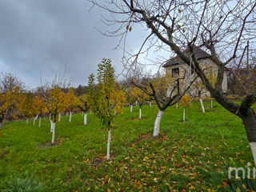
[[[47,118],[40,128],[32,121],[6,123],[0,130],[0,190],[254,189],[255,179],[227,179],[228,167],[254,164],[242,121],[216,103],[214,111],[210,102],[205,105],[206,114],[197,102],[186,109],[186,122],[182,108],[168,108],[158,138],[152,137],[157,107],[143,106],[142,120],[138,106],[133,113],[127,107],[114,121],[110,162],[105,158],[107,133],[94,114],[88,115],[87,126],[82,114],[72,122],[62,117],[54,146]]]

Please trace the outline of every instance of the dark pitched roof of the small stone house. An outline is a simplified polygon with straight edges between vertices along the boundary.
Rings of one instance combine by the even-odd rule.
[[[207,54],[206,51],[201,50],[198,46],[194,46],[194,56],[196,59],[200,60],[203,58],[211,58],[210,54]],[[190,56],[190,50],[186,49],[183,51],[183,54],[185,54],[187,57]],[[163,65],[163,67],[168,67],[168,66],[176,66],[180,63],[182,63],[182,59],[176,56],[175,58],[171,58],[169,61],[166,62],[166,64]]]

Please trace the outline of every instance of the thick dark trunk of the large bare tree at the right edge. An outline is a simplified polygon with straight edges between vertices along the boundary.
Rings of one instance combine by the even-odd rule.
[[[250,149],[254,156],[254,163],[256,166],[256,115],[250,109],[250,112],[242,118],[242,122],[246,127],[246,134],[250,144]]]

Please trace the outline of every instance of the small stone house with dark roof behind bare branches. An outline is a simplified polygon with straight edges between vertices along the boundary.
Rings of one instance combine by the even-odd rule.
[[[187,57],[190,57],[190,51],[188,49],[184,50],[183,54],[185,54]],[[202,70],[204,70],[207,78],[209,78],[212,85],[214,85],[217,80],[218,66],[212,61],[211,55],[206,53],[206,51],[200,49],[198,46],[194,46],[194,56],[198,60],[200,66],[202,67]],[[190,77],[190,67],[178,56],[175,58],[171,58],[169,61],[166,62],[166,64],[163,65],[163,67],[166,69],[166,74],[169,74],[172,77],[183,77],[184,74],[186,74],[185,79],[182,80],[183,85],[188,85],[190,83],[190,78],[193,79],[196,75],[194,71],[191,70]],[[222,90],[224,93],[226,93],[226,73],[224,74],[222,82]],[[210,93],[205,89],[205,86],[199,79],[196,80],[194,84],[190,87],[190,94],[193,94],[194,97],[210,97]]]

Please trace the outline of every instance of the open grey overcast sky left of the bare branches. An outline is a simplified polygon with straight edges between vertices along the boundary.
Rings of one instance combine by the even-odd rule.
[[[17,74],[27,88],[40,86],[40,77],[50,81],[61,67],[73,86],[86,85],[102,58],[121,71],[122,51],[112,50],[118,39],[98,33],[104,13],[89,10],[86,0],[1,0],[0,70]]]

